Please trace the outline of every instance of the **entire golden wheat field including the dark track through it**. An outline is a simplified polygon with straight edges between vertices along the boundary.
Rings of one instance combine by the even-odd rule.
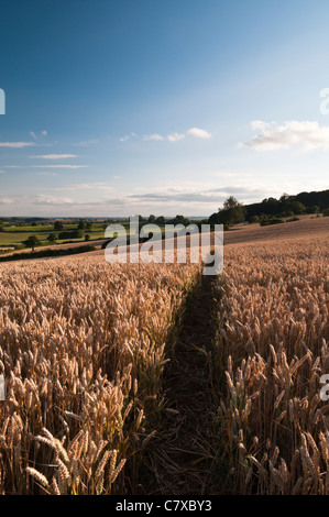
[[[294,230],[292,230],[294,228]],[[328,494],[329,219],[224,270],[0,266],[1,494]]]

